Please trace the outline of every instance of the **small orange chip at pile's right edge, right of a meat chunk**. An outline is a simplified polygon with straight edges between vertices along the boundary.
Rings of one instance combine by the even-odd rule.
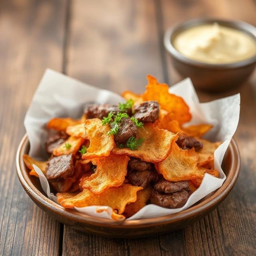
[[[204,166],[214,160],[214,151],[222,142],[210,142],[208,140],[200,139],[203,143],[203,148],[200,149],[197,153],[199,156],[198,167]]]

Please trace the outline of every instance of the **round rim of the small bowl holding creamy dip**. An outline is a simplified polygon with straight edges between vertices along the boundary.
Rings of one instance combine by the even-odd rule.
[[[252,38],[254,38],[256,42],[256,27],[254,27],[253,25],[247,22],[244,22],[242,20],[228,20],[228,19],[218,19],[218,18],[196,18],[191,20],[185,20],[184,22],[177,23],[174,26],[171,26],[170,28],[168,28],[164,34],[165,49],[172,55],[172,57],[180,60],[181,62],[190,64],[192,66],[199,66],[202,68],[211,68],[211,69],[212,68],[214,69],[241,68],[256,62],[256,54],[251,58],[248,58],[239,62],[233,62],[233,63],[211,64],[207,62],[201,62],[199,60],[192,60],[184,56],[182,53],[176,50],[176,48],[172,45],[171,38],[174,34],[176,33],[178,34],[179,31],[181,32],[193,26],[202,25],[202,24],[212,24],[214,22],[217,22],[218,24],[229,27],[229,28],[235,28],[237,30],[245,32],[246,34],[249,34]]]

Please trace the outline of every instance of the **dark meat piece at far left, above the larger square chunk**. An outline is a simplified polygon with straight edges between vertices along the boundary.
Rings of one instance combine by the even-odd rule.
[[[66,132],[57,132],[56,130],[48,131],[48,138],[45,142],[46,152],[52,154],[54,148],[58,148],[68,138]]]

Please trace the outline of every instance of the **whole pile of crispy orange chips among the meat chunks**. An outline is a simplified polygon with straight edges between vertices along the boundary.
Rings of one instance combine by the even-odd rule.
[[[131,157],[154,164],[166,180],[189,180],[195,189],[200,186],[205,173],[219,176],[218,170],[214,170],[214,150],[220,142],[201,138],[212,125],[184,126],[192,118],[189,107],[168,89],[167,84],[160,84],[156,78],[148,76],[143,94],[130,91],[122,94],[125,99],[132,99],[134,105],[148,100],[156,100],[160,105],[159,119],[138,129],[138,137],[144,141],[137,150],[118,147],[114,136],[108,134],[110,126],[102,125],[98,118],[53,118],[48,122],[47,129],[68,134],[66,141],[53,150],[53,156],[76,156],[74,176],[50,182],[58,192],[59,204],[65,208],[110,206],[115,220],[132,216],[148,203],[151,188],[143,189],[128,183],[126,174]],[[196,138],[203,148],[198,152],[194,148],[179,148],[176,140],[180,135]],[[38,177],[32,164],[45,174],[48,161],[40,162],[28,155],[23,158],[30,175]]]

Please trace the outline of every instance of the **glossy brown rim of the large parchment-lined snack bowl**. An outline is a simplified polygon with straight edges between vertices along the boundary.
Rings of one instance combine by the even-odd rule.
[[[169,214],[156,218],[115,221],[82,214],[74,209],[65,209],[64,207],[53,202],[44,194],[42,194],[31,182],[29,174],[26,171],[26,167],[23,162],[22,154],[24,154],[24,150],[28,146],[28,144],[28,136],[27,134],[25,134],[18,146],[18,150],[16,153],[16,171],[20,183],[22,184],[22,187],[27,192],[27,194],[32,198],[32,200],[37,201],[42,207],[46,208],[50,212],[54,212],[57,215],[62,215],[66,218],[70,218],[72,219],[72,221],[80,223],[82,222],[84,224],[91,224],[94,226],[104,226],[111,228],[142,228],[155,226],[156,224],[170,224],[172,222],[183,220],[184,218],[190,218],[195,214],[203,214],[204,212],[207,212],[210,208],[214,208],[214,206],[216,206],[218,202],[224,200],[224,198],[229,194],[234,184],[236,183],[240,172],[240,153],[235,140],[232,138],[228,146],[230,148],[231,158],[233,160],[230,167],[230,174],[226,177],[226,180],[224,181],[222,186],[218,188],[218,190],[216,190],[214,194],[211,195],[209,198],[200,202],[199,204],[190,206],[190,208],[175,214]],[[24,176],[24,174],[26,175]]]

